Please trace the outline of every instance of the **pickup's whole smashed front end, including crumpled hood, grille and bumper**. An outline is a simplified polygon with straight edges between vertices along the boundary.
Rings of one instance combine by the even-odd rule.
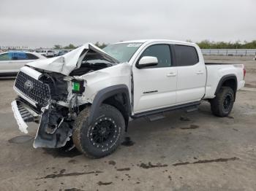
[[[12,101],[12,110],[20,131],[28,133],[26,122],[37,122],[35,148],[63,147],[72,136],[79,109],[91,104],[84,95],[86,79],[80,76],[116,63],[90,43],[60,57],[28,63],[13,87],[18,98]]]

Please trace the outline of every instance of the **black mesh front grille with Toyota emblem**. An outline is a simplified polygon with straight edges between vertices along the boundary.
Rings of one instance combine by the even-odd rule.
[[[50,100],[49,86],[22,71],[16,77],[15,87],[40,106],[46,106]]]

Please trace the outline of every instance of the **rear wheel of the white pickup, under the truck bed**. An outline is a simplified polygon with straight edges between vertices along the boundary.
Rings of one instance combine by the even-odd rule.
[[[234,100],[234,91],[230,87],[221,87],[211,100],[211,112],[218,117],[226,117],[233,108]]]

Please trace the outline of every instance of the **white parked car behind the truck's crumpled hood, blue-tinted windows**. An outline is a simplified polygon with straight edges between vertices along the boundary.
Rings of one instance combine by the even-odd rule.
[[[37,52],[1,52],[0,77],[15,77],[22,66],[38,59],[45,56]]]

